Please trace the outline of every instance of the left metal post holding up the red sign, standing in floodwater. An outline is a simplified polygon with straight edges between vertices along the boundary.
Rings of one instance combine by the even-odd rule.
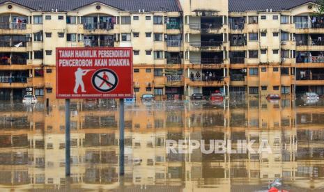
[[[70,99],[65,99],[65,176],[70,176]]]

